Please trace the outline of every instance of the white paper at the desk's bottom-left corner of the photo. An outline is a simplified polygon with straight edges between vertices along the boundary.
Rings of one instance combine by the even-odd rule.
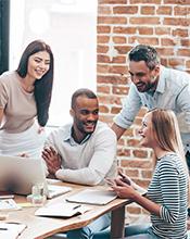
[[[25,228],[22,223],[0,223],[0,238],[16,239]]]

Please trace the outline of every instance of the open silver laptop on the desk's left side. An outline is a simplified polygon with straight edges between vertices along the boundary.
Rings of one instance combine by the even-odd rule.
[[[45,194],[51,199],[72,190],[71,187],[49,185],[42,159],[0,155],[0,191],[30,194],[31,187],[43,184]]]

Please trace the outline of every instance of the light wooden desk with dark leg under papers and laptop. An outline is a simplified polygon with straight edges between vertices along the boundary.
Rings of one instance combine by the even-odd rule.
[[[72,187],[73,190],[66,194],[51,199],[51,203],[61,202],[65,197],[68,197],[68,194],[76,193],[77,191],[85,188],[89,188],[86,186],[78,186],[73,184],[64,185]],[[15,201],[25,202],[26,198],[16,196]],[[124,235],[126,204],[128,204],[127,200],[115,199],[106,205],[90,205],[92,210],[90,210],[89,212],[67,219],[35,216],[35,211],[37,210],[37,207],[25,207],[21,211],[10,212],[9,218],[7,221],[21,222],[27,225],[27,228],[18,237],[20,239],[42,239],[56,232],[67,231],[71,229],[87,226],[89,223],[105,214],[106,212],[112,212],[111,238],[116,239],[123,238]]]

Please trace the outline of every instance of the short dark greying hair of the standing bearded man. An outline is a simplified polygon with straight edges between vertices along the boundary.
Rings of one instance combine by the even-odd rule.
[[[154,70],[154,67],[160,64],[160,58],[156,50],[145,45],[138,45],[132,48],[128,54],[128,59],[135,62],[144,61],[150,70]]]

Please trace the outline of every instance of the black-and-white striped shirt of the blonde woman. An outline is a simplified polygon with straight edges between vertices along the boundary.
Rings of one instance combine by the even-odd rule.
[[[188,175],[176,153],[157,161],[147,196],[161,205],[160,217],[151,215],[152,231],[159,238],[187,238]]]

